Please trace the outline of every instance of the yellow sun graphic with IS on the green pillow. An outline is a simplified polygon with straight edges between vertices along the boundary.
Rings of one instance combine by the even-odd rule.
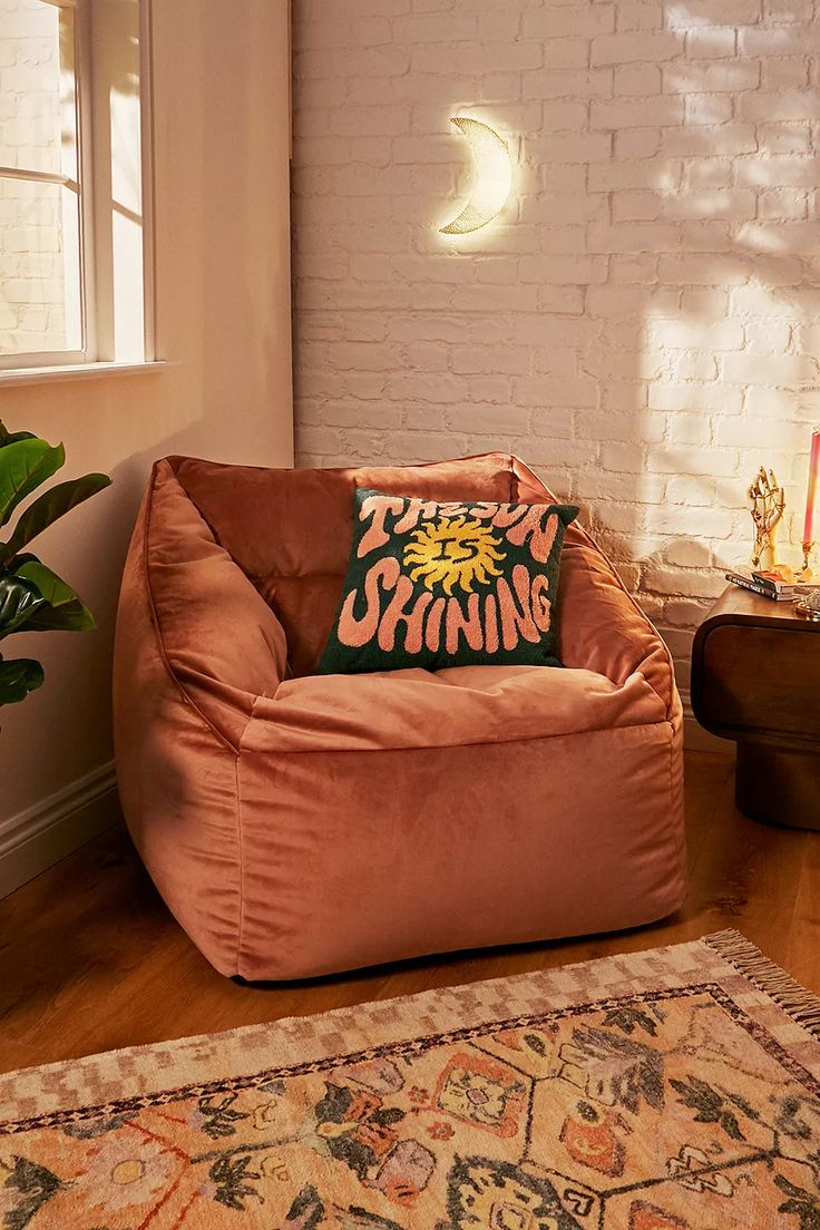
[[[495,567],[505,552],[498,551],[500,539],[492,526],[468,517],[439,517],[413,530],[412,541],[404,547],[404,568],[413,581],[423,579],[428,589],[443,584],[450,597],[454,585],[471,594],[473,582],[489,584],[499,577]]]

